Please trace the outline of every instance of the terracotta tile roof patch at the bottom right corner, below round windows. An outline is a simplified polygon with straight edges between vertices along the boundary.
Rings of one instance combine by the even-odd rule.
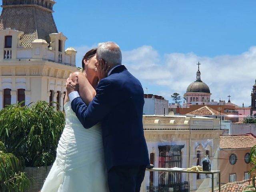
[[[221,186],[220,192],[242,192],[250,184],[252,184],[252,179],[227,183]],[[214,192],[219,192],[219,190],[215,189]]]

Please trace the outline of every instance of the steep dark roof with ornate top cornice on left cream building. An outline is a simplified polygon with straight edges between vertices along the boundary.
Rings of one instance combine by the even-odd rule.
[[[49,34],[58,33],[52,16],[55,3],[54,0],[2,0],[0,30],[11,28],[24,32],[20,37],[24,48],[32,47],[35,39],[50,44]]]

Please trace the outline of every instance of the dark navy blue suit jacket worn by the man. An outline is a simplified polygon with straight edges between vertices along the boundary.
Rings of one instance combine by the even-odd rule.
[[[144,92],[140,81],[123,65],[100,80],[89,106],[80,97],[72,101],[72,110],[84,128],[102,123],[108,170],[112,166],[149,164],[142,124],[143,105]]]

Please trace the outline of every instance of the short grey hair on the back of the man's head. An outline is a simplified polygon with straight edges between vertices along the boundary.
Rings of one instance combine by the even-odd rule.
[[[109,65],[122,64],[122,52],[115,42],[104,42],[98,44],[97,59],[104,59]]]

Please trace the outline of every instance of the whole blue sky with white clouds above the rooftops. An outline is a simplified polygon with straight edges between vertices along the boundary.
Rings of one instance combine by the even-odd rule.
[[[255,0],[56,0],[54,19],[66,48],[82,55],[117,42],[126,65],[148,93],[183,95],[196,78],[211,99],[250,105],[256,79]]]

